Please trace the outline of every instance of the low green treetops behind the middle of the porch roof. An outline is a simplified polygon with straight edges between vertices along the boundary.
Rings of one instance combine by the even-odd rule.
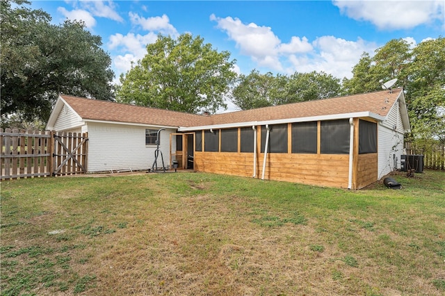
[[[298,73],[291,76],[260,74],[252,70],[241,74],[232,92],[232,102],[241,110],[327,99],[340,93],[339,79],[325,72]]]

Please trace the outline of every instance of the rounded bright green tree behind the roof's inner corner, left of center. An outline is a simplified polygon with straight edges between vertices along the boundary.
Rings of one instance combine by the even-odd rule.
[[[236,79],[235,61],[190,34],[159,35],[147,54],[120,76],[118,101],[187,113],[215,112]]]

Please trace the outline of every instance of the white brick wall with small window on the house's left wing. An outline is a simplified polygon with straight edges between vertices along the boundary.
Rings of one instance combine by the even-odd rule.
[[[88,171],[148,170],[154,163],[156,145],[145,145],[147,126],[88,123]],[[149,129],[158,129],[156,126]],[[165,167],[170,165],[170,133],[161,131],[160,151]],[[157,161],[162,167],[161,153]]]

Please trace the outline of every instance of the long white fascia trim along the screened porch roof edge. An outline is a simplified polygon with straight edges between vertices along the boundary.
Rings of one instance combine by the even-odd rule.
[[[285,118],[283,120],[264,120],[264,121],[256,121],[256,122],[235,122],[230,124],[213,124],[213,125],[204,125],[204,126],[191,126],[184,127],[179,126],[178,131],[198,131],[202,129],[230,129],[234,127],[243,127],[243,126],[252,126],[252,125],[266,125],[266,124],[284,124],[284,123],[293,123],[293,122],[314,122],[318,120],[340,120],[350,117],[371,117],[378,121],[385,120],[385,117],[365,111],[365,112],[356,112],[356,113],[344,113],[344,114],[332,114],[332,115],[321,115],[321,116],[309,116],[309,117],[296,117],[296,118]]]

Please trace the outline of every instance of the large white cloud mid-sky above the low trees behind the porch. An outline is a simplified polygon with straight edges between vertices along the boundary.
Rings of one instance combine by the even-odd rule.
[[[283,43],[267,26],[243,24],[240,19],[211,15],[218,28],[225,31],[241,54],[250,56],[258,67],[276,72],[326,72],[340,79],[350,78],[352,69],[364,51],[371,55],[376,44],[362,39],[348,41],[334,36],[323,36],[309,42],[306,37],[293,36]]]

